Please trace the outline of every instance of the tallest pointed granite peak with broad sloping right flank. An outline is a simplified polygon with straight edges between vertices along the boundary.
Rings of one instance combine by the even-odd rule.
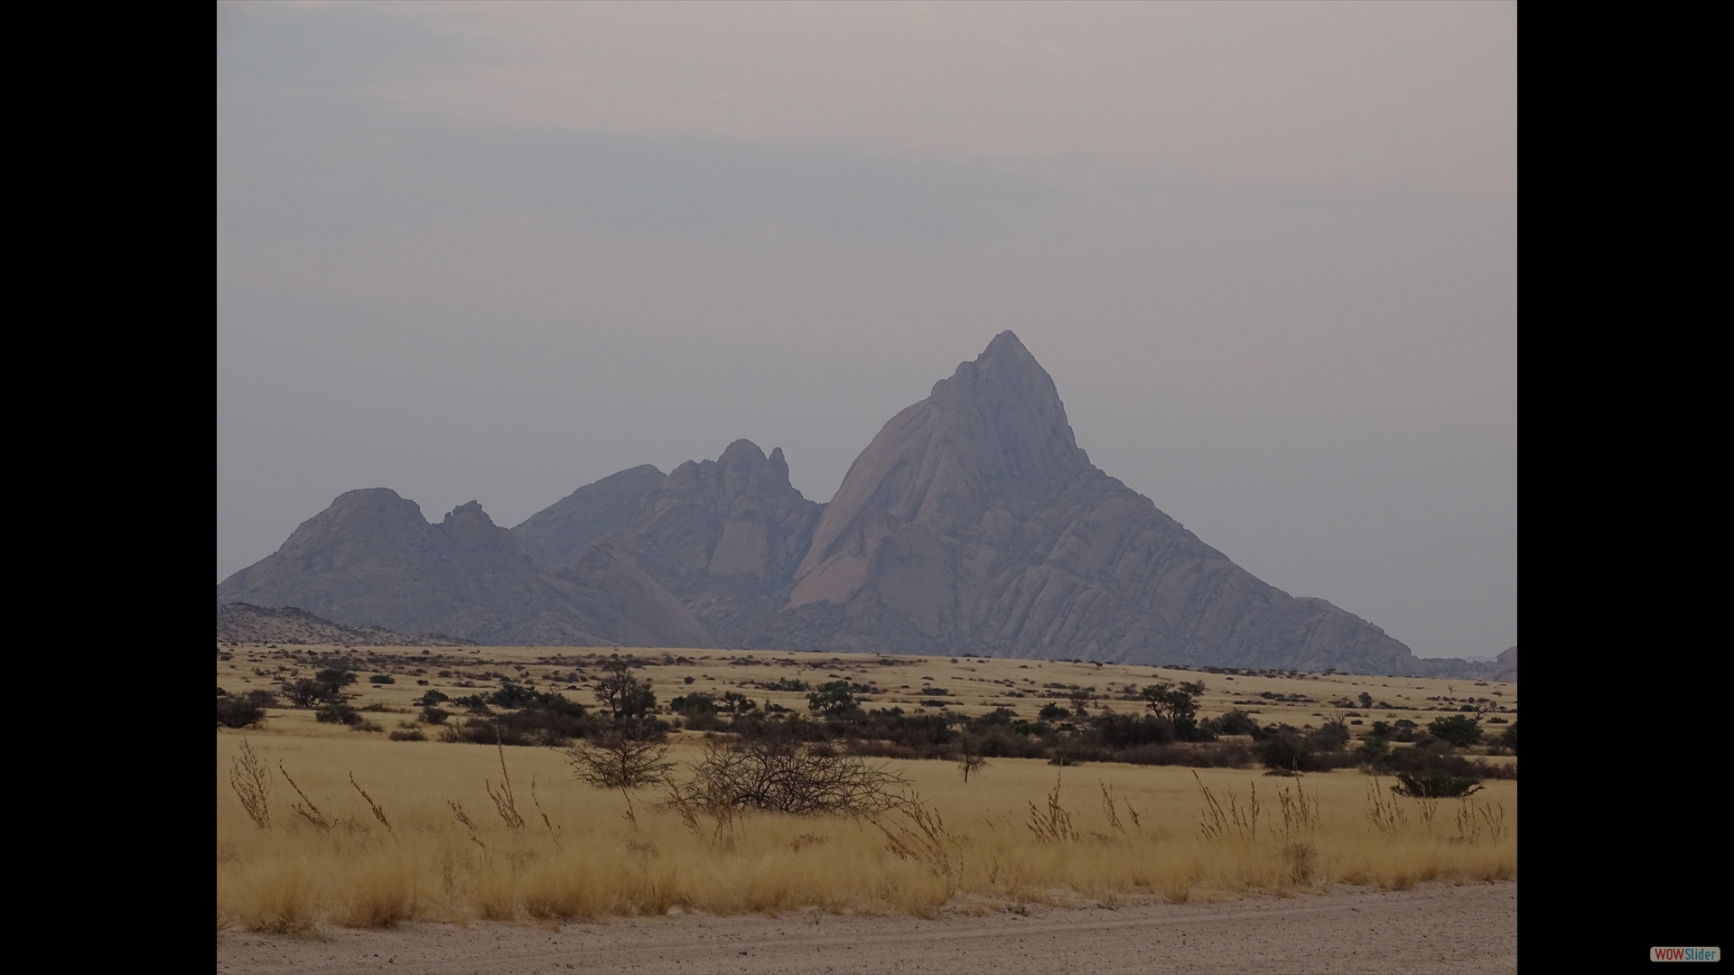
[[[862,451],[784,616],[786,637],[836,649],[1384,673],[1415,661],[1091,465],[1009,331]]]

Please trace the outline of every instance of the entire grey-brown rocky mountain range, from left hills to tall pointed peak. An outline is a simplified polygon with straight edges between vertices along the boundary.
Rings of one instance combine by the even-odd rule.
[[[482,642],[1484,670],[1262,583],[1096,468],[1009,331],[893,416],[827,505],[751,441],[623,470],[510,533],[475,503],[427,526],[380,491],[338,498],[218,602]],[[380,514],[343,514],[357,505]]]

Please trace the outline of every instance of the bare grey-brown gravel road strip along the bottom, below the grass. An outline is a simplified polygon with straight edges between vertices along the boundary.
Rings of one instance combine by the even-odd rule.
[[[319,937],[227,932],[217,972],[1517,972],[1517,883],[1405,892],[964,909],[935,918],[623,918],[414,923]]]

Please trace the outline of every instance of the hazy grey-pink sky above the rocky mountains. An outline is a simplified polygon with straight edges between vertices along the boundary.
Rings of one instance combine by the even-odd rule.
[[[1510,3],[217,9],[217,576],[855,455],[1011,328],[1079,446],[1422,656],[1517,638]]]

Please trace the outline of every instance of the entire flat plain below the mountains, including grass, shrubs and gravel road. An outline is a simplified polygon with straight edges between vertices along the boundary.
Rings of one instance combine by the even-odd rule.
[[[217,732],[225,972],[1516,970],[1516,684],[302,645],[217,684],[257,710]],[[848,795],[714,788],[753,755]]]

